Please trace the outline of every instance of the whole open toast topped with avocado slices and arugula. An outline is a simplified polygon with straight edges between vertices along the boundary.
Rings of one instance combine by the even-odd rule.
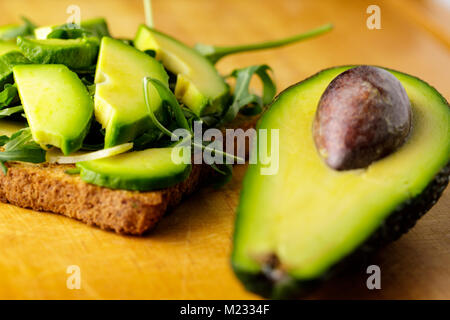
[[[39,28],[26,20],[12,31],[0,43],[0,201],[118,233],[143,234],[199,185],[230,176],[228,163],[174,163],[177,130],[191,136],[195,122],[222,132],[252,128],[276,91],[267,66],[222,77],[218,59],[208,56],[247,49],[202,45],[204,54],[151,26],[142,25],[134,40],[113,38],[102,18]],[[262,96],[249,91],[253,76]],[[226,79],[233,77],[231,89]],[[243,160],[210,142],[192,143],[192,157],[209,150]]]

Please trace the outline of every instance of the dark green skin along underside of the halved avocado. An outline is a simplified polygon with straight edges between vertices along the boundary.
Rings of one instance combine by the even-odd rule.
[[[320,278],[300,281],[285,274],[283,279],[274,281],[271,279],[271,273],[275,270],[270,269],[270,267],[264,272],[256,274],[243,272],[232,266],[233,270],[247,290],[264,298],[289,299],[302,297],[316,289],[325,280],[350,266],[364,264],[375,251],[408,232],[414,227],[417,220],[436,204],[448,185],[449,176],[450,162],[441,169],[419,195],[400,204],[363,244],[332,266]]]

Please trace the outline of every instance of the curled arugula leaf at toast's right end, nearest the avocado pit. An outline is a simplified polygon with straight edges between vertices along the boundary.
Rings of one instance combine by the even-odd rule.
[[[233,103],[222,117],[220,125],[233,121],[239,111],[247,115],[262,112],[263,107],[272,101],[277,91],[275,83],[269,75],[270,70],[268,65],[256,65],[237,69],[231,73],[230,76],[236,78]],[[250,81],[254,75],[258,76],[263,84],[262,97],[249,91]]]

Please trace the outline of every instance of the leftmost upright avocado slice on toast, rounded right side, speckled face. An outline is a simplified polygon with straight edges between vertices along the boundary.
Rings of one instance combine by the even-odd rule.
[[[57,64],[20,65],[13,71],[34,141],[66,155],[78,150],[94,112],[78,76]]]

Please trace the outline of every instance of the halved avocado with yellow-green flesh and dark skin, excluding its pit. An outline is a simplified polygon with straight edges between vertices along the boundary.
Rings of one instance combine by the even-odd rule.
[[[311,129],[315,111],[328,84],[352,67],[326,69],[286,89],[258,124],[268,130],[269,144],[277,143],[270,130],[279,129],[279,170],[262,175],[265,165],[249,165],[232,267],[248,290],[264,297],[298,297],[350,262],[364,261],[413,227],[448,184],[448,102],[424,81],[388,69],[411,102],[407,142],[364,169],[335,171],[322,161]]]

